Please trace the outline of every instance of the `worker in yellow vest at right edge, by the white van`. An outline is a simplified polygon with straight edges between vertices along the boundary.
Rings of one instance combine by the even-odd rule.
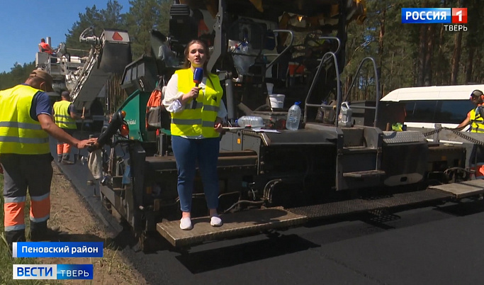
[[[463,129],[467,125],[471,125],[468,131],[471,133],[484,133],[484,94],[483,91],[474,90],[469,98],[475,108],[467,113],[467,117],[456,128]],[[483,135],[484,140],[484,135]],[[471,165],[475,167],[475,178],[484,179],[484,149],[482,145],[474,145],[471,152]]]

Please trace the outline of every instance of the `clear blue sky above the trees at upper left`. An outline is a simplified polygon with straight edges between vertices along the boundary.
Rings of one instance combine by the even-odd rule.
[[[52,47],[65,41],[65,34],[79,21],[86,7],[106,9],[108,0],[0,0],[0,73],[10,72],[18,62],[35,61],[41,38],[52,38]],[[118,0],[122,13],[129,11],[129,0]]]

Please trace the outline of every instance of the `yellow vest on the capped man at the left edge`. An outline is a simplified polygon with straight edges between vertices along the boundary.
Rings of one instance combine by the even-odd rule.
[[[27,85],[0,91],[0,155],[50,153],[49,136],[30,118],[33,96],[39,91]]]

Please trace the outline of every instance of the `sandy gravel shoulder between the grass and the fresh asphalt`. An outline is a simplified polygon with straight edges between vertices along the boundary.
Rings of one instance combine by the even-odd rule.
[[[147,284],[143,276],[118,249],[108,228],[91,213],[74,186],[52,162],[54,176],[50,192],[51,215],[50,227],[60,227],[66,235],[60,235],[60,241],[104,242],[102,258],[42,258],[42,264],[94,264],[94,280],[91,284]],[[81,281],[62,282],[80,284]],[[85,284],[85,281],[84,283]]]

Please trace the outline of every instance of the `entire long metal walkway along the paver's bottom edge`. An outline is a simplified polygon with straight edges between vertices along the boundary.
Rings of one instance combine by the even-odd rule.
[[[264,208],[222,215],[220,228],[210,225],[210,218],[193,218],[193,230],[181,230],[180,221],[158,223],[158,232],[175,247],[196,245],[209,240],[221,240],[240,235],[260,233],[262,230],[302,225],[311,219],[336,218],[420,203],[438,203],[452,199],[484,194],[484,179],[432,186],[422,191],[388,194],[368,199],[351,199],[313,206],[284,209]]]

